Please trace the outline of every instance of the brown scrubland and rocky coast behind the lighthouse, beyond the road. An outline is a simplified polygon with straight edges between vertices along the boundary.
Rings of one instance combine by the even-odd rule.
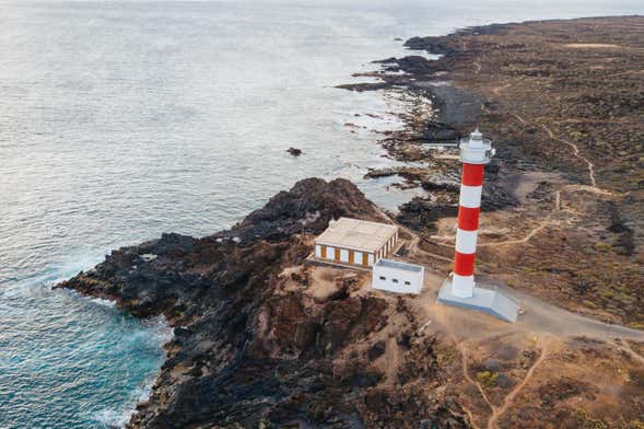
[[[514,230],[503,240],[491,228],[480,269],[506,273],[508,285],[523,283],[570,310],[644,326],[637,298],[644,244],[637,232],[644,228],[642,21],[536,21],[413,37],[405,46],[440,58],[376,61],[383,69],[365,76],[382,82],[341,85],[403,91],[431,103],[433,116],[410,114],[405,129],[384,140],[390,156],[425,166],[367,173],[398,175],[405,187],[430,190],[403,205],[397,220],[429,237],[426,250],[450,256],[444,245],[449,241],[436,239],[450,234],[442,219],[456,215],[459,163],[454,149],[426,147],[454,142],[479,127],[497,151],[485,170],[482,210],[490,213],[490,225]],[[493,244],[523,240],[535,224],[551,240],[535,236],[535,246],[510,255],[510,246]],[[585,232],[575,234],[579,229]],[[553,260],[551,255],[562,252],[555,243],[564,243],[564,260]],[[616,278],[618,285],[608,286]]]

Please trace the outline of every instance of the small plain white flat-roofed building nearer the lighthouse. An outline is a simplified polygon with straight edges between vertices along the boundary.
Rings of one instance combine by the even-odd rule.
[[[396,293],[419,294],[423,288],[425,268],[391,259],[376,262],[372,273],[372,287]]]

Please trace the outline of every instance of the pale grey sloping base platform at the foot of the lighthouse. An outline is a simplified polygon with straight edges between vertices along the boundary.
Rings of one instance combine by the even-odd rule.
[[[442,304],[477,310],[511,323],[516,323],[519,312],[519,305],[497,290],[473,288],[473,294],[470,298],[455,295],[452,291],[450,278],[443,282],[437,301]]]

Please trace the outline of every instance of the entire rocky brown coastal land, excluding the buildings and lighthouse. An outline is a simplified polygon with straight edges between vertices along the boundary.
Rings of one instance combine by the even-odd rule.
[[[164,234],[57,286],[174,327],[129,427],[644,427],[644,18],[405,44],[363,73],[378,82],[341,88],[417,101],[383,144],[422,165],[367,175],[425,197],[387,213],[348,181],[307,178],[230,230]],[[435,303],[454,252],[452,144],[477,126],[497,150],[477,275],[522,300],[516,325]],[[400,257],[428,267],[423,293],[306,264],[341,216],[398,224]]]

